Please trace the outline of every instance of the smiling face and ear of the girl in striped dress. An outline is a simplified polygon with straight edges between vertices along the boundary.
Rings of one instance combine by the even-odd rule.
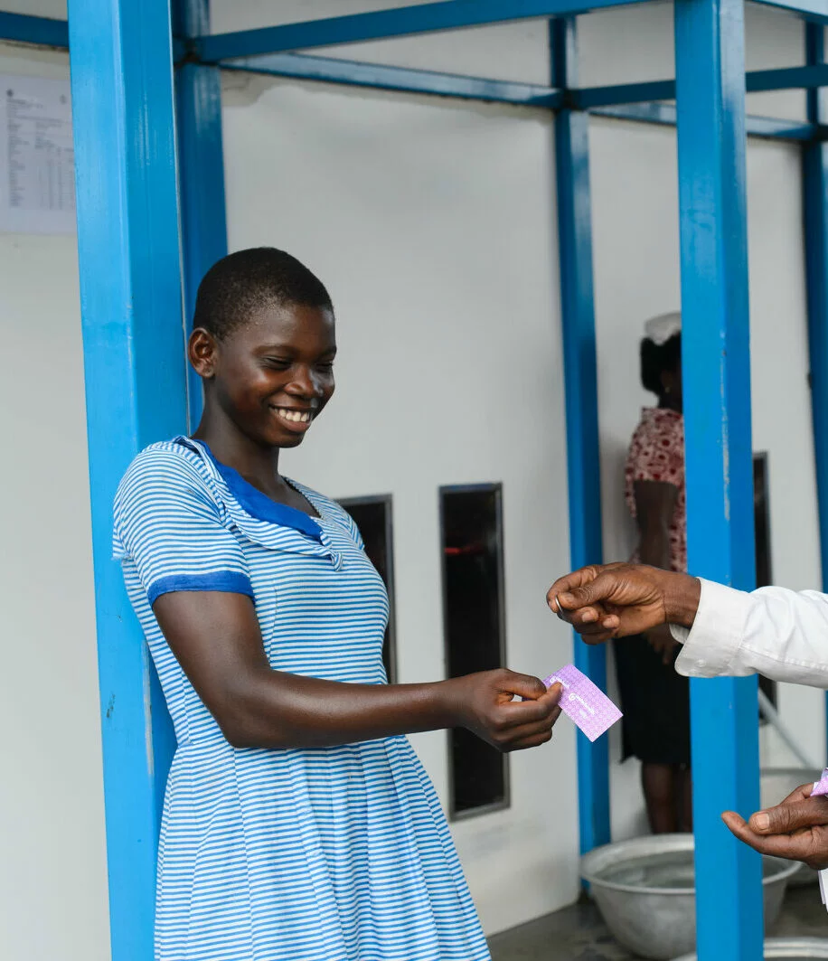
[[[189,356],[205,403],[264,447],[296,447],[333,393],[333,313],[301,304],[257,308],[221,340],[193,331]]]

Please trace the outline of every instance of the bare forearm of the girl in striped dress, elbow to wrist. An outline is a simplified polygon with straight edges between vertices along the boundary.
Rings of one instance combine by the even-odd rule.
[[[457,727],[452,682],[350,684],[261,668],[227,689],[214,713],[235,747],[322,748]]]

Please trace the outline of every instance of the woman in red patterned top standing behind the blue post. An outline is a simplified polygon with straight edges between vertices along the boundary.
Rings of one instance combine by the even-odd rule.
[[[687,570],[681,317],[649,321],[641,342],[641,379],[658,398],[645,407],[626,463],[626,502],[639,532],[634,560]],[[653,833],[693,830],[690,688],[676,674],[677,645],[664,625],[614,646],[621,691],[624,757],[642,762]]]

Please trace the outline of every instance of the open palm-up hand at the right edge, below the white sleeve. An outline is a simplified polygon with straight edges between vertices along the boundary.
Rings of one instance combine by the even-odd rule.
[[[791,861],[803,861],[820,871],[828,868],[828,797],[811,797],[813,784],[802,784],[775,807],[757,811],[744,821],[734,811],[721,820],[754,850]]]

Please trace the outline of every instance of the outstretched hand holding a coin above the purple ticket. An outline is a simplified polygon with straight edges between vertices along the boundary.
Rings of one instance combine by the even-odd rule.
[[[641,634],[663,624],[693,624],[699,582],[643,564],[583,567],[548,590],[551,610],[588,644]]]

